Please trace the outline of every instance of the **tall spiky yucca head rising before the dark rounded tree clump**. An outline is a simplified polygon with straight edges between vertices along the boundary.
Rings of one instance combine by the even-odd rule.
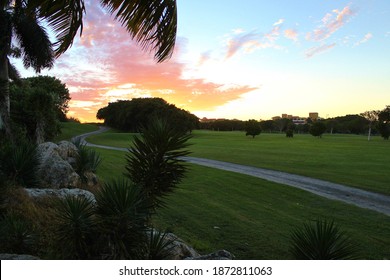
[[[126,155],[126,173],[146,196],[157,206],[182,180],[187,167],[182,157],[190,152],[187,141],[191,138],[172,128],[167,121],[155,120],[143,130],[141,137],[134,137]]]

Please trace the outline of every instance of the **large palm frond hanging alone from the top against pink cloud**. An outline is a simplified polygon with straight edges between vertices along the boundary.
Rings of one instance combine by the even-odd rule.
[[[155,52],[158,62],[172,55],[177,30],[175,0],[101,0],[101,3],[144,49]]]

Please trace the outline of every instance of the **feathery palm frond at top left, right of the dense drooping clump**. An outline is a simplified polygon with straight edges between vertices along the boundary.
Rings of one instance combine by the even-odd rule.
[[[32,0],[30,8],[37,10],[38,16],[53,28],[57,41],[54,43],[56,57],[72,46],[73,40],[83,30],[85,5],[83,0]]]

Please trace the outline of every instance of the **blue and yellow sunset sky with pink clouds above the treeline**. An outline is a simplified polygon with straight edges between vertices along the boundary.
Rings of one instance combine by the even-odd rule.
[[[86,1],[82,36],[41,73],[66,83],[68,115],[83,122],[138,97],[241,120],[390,105],[389,0],[177,0],[176,47],[163,63],[99,2]],[[15,63],[22,76],[37,75]]]

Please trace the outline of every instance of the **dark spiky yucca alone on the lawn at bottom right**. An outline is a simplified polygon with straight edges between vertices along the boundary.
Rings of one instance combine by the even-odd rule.
[[[356,259],[357,246],[334,222],[304,223],[292,232],[290,251],[298,260]]]

